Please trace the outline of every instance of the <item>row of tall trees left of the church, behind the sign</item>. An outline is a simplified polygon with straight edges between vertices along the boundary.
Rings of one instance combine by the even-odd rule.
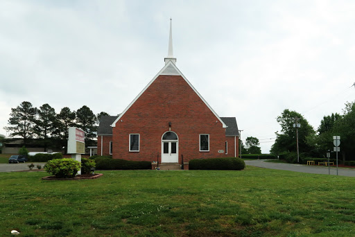
[[[77,127],[85,131],[85,143],[94,145],[97,125],[101,116],[107,116],[106,112],[94,114],[92,109],[83,105],[80,109],[72,111],[69,107],[63,107],[59,113],[49,104],[39,108],[24,101],[19,106],[12,108],[8,126],[4,127],[10,132],[10,137],[21,137],[26,146],[31,139],[40,139],[44,148],[62,148],[67,146],[68,128]],[[32,143],[32,142],[31,142]]]

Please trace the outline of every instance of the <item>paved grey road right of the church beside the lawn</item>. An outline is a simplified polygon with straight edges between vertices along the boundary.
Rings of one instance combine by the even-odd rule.
[[[266,162],[264,159],[249,160],[245,161],[248,166],[257,166],[261,168],[272,168],[274,170],[290,170],[302,173],[320,174],[328,175],[328,167],[325,166],[306,166],[300,164],[283,164],[283,163],[272,163]],[[330,174],[336,175],[336,168],[330,168]],[[348,168],[338,168],[338,175],[355,177],[355,170]]]

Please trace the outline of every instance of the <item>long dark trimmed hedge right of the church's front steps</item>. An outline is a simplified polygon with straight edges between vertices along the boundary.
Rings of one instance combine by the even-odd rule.
[[[243,170],[245,162],[236,157],[192,159],[189,161],[189,170]]]

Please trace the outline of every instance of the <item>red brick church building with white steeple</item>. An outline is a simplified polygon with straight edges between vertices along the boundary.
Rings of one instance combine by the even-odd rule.
[[[218,116],[176,67],[171,36],[170,25],[168,57],[157,76],[119,116],[101,118],[98,155],[158,164],[238,156],[236,118]]]

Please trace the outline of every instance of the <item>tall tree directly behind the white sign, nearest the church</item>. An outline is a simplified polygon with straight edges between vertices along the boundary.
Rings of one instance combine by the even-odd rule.
[[[84,105],[76,111],[76,125],[85,132],[85,143],[96,137],[96,116],[89,107]]]

